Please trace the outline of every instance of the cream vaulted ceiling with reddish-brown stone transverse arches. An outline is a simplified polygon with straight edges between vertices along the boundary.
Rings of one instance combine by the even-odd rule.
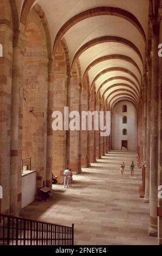
[[[21,12],[24,0],[17,0]],[[110,107],[128,99],[138,106],[148,31],[148,0],[36,0],[50,28],[53,49],[65,39],[71,66]]]

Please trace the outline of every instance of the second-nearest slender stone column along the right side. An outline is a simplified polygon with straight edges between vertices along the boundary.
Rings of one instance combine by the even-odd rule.
[[[151,146],[151,58],[147,58],[147,139],[146,139],[146,181],[144,202],[149,203],[149,183],[150,183],[150,146]]]

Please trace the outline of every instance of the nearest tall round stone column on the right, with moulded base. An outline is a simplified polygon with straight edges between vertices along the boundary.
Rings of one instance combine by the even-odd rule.
[[[152,141],[151,141],[151,175],[150,175],[150,222],[149,235],[158,235],[157,206],[158,206],[158,22],[152,20]]]

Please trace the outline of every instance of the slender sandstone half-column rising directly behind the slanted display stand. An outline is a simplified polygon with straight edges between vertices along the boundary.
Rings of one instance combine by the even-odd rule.
[[[46,162],[46,186],[52,188],[52,113],[53,113],[53,73],[51,72],[53,60],[48,64],[48,109],[47,109],[47,162]]]

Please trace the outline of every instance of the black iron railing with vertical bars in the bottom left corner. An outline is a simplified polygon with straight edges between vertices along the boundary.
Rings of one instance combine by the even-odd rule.
[[[72,227],[0,214],[0,245],[73,245]]]

